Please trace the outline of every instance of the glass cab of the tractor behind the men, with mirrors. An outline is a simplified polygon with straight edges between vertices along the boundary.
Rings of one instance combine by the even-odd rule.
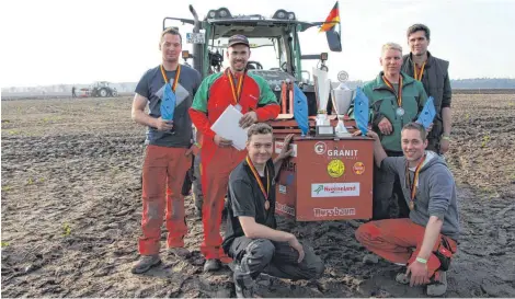
[[[309,115],[317,115],[311,74],[308,70],[302,70],[301,61],[319,60],[318,68],[327,71],[328,54],[302,55],[299,33],[321,26],[324,22],[297,21],[295,12],[283,9],[277,10],[272,18],[265,18],[260,14],[232,15],[227,8],[220,8],[209,10],[202,21],[192,5],[190,11],[193,19],[164,18],[163,28],[171,26],[170,21],[193,25],[192,32],[186,34],[186,43],[193,44],[193,53],[183,51],[183,58],[186,62],[192,59],[193,68],[198,70],[203,78],[222,71],[224,50],[229,37],[242,34],[251,44],[252,60],[248,64],[249,71],[263,77],[278,100],[282,99],[285,81],[297,83],[308,97]],[[332,51],[341,51],[340,34],[333,30],[327,31],[325,34],[329,48]]]

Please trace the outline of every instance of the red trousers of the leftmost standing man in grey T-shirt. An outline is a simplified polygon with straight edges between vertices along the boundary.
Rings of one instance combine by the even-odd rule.
[[[187,233],[184,216],[184,196],[181,194],[184,177],[192,165],[185,148],[148,146],[144,162],[141,219],[142,235],[139,238],[141,255],[158,254],[161,226],[167,209],[167,245],[184,246]]]

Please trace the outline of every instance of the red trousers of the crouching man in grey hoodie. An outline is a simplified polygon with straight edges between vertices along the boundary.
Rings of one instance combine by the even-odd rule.
[[[409,218],[386,219],[370,221],[360,226],[356,230],[356,239],[367,250],[392,263],[411,264],[419,255],[424,233],[425,228],[413,223]],[[456,241],[444,234],[438,237],[433,248],[433,253],[427,260],[427,274],[430,278],[440,267],[440,262],[434,252],[442,246],[442,238],[447,240],[453,253],[457,250]]]

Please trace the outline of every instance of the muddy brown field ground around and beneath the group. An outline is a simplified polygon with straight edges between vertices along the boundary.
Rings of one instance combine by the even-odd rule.
[[[228,268],[202,272],[202,226],[186,198],[191,258],[133,275],[144,128],[129,97],[2,102],[2,297],[231,297]],[[447,161],[462,238],[447,297],[515,297],[515,95],[454,96]],[[279,219],[325,262],[318,281],[260,278],[264,297],[423,297],[398,266],[362,263],[359,221]],[[163,233],[164,237],[164,233]],[[163,239],[164,240],[164,239]],[[162,243],[164,245],[164,243]]]

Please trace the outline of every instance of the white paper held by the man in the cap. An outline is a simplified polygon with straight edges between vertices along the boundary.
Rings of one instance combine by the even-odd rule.
[[[211,130],[225,139],[232,140],[232,146],[237,150],[243,150],[247,141],[247,130],[240,127],[240,119],[243,116],[233,105],[229,105],[226,111],[216,119]]]

